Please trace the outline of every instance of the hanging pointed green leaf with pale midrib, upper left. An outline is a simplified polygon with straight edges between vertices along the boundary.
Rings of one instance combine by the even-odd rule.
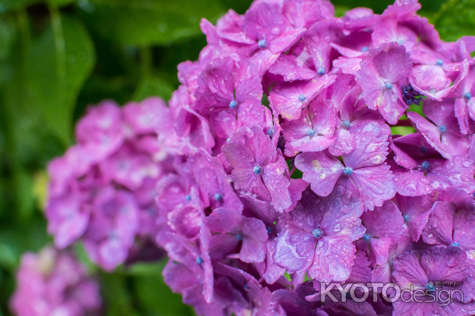
[[[71,143],[73,109],[95,64],[92,41],[83,25],[52,11],[51,23],[33,42],[27,77],[35,108],[65,144]]]

